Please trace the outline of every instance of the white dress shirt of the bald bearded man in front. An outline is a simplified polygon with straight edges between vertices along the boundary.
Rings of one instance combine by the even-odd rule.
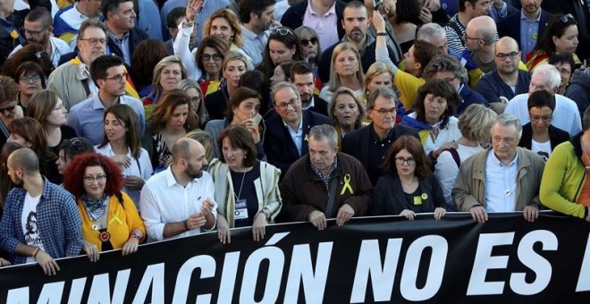
[[[164,240],[164,225],[185,221],[197,214],[206,198],[214,199],[215,186],[209,173],[190,181],[186,187],[176,182],[172,166],[152,176],[141,190],[139,210],[147,228],[147,242]],[[217,219],[217,203],[213,207]],[[214,225],[215,228],[215,225]],[[213,229],[213,228],[212,228]],[[197,228],[182,232],[167,239],[197,235],[203,230]]]

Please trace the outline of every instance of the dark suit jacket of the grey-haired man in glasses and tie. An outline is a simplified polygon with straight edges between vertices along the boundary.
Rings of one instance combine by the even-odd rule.
[[[301,155],[297,146],[291,139],[289,130],[282,122],[280,115],[275,115],[265,121],[266,131],[264,148],[266,160],[269,164],[281,169],[281,179],[291,164],[295,163],[301,156],[308,154],[308,137],[311,127],[318,124],[330,124],[330,119],[322,114],[316,114],[308,110],[302,110],[303,118],[303,142],[301,143]]]

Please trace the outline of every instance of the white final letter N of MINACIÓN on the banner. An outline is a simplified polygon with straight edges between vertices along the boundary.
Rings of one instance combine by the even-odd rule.
[[[328,279],[328,268],[332,257],[333,242],[321,242],[317,248],[316,272],[311,263],[309,245],[293,246],[285,303],[298,303],[299,284],[303,283],[306,303],[324,302],[325,283]]]

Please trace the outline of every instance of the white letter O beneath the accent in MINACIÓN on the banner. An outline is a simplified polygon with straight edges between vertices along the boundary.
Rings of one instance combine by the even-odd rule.
[[[260,263],[267,259],[269,262],[263,299],[256,302],[254,293],[258,278]],[[240,290],[240,303],[276,303],[281,288],[282,268],[285,256],[277,247],[264,247],[252,252],[244,266],[244,277]]]

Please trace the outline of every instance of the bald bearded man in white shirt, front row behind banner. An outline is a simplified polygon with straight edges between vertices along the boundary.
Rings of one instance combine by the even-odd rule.
[[[179,139],[168,169],[152,176],[141,190],[139,210],[147,241],[196,235],[215,228],[217,204],[205,148],[195,139]]]

